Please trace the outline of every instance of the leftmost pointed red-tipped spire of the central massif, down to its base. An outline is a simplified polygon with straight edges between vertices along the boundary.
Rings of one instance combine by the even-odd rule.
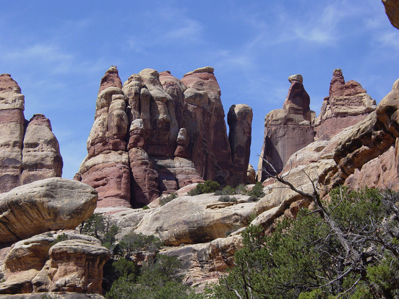
[[[88,156],[79,169],[81,181],[98,191],[98,207],[131,207],[125,141],[129,120],[119,82],[118,70],[113,66],[101,79],[94,124],[87,140]]]

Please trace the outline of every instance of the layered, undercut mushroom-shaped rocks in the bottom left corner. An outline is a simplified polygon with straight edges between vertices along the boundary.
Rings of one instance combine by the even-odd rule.
[[[108,249],[94,237],[62,232],[66,241],[56,243],[56,235],[43,234],[15,243],[3,261],[5,281],[0,284],[0,294],[102,294]]]

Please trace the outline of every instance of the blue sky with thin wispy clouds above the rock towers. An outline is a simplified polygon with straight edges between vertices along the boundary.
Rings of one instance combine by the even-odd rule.
[[[288,76],[302,74],[320,113],[332,72],[380,102],[399,77],[399,30],[379,0],[1,1],[0,73],[25,95],[25,118],[51,120],[72,178],[85,157],[104,72],[122,82],[144,68],[182,78],[215,68],[225,113],[253,109],[256,168],[264,117],[281,109]]]

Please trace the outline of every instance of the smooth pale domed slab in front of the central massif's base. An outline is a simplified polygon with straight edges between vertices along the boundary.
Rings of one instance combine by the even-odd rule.
[[[248,225],[254,202],[235,195],[237,202],[219,202],[219,196],[181,196],[146,214],[135,233],[155,235],[167,246],[206,243],[224,238],[227,231]],[[173,215],[173,216],[171,216]]]

